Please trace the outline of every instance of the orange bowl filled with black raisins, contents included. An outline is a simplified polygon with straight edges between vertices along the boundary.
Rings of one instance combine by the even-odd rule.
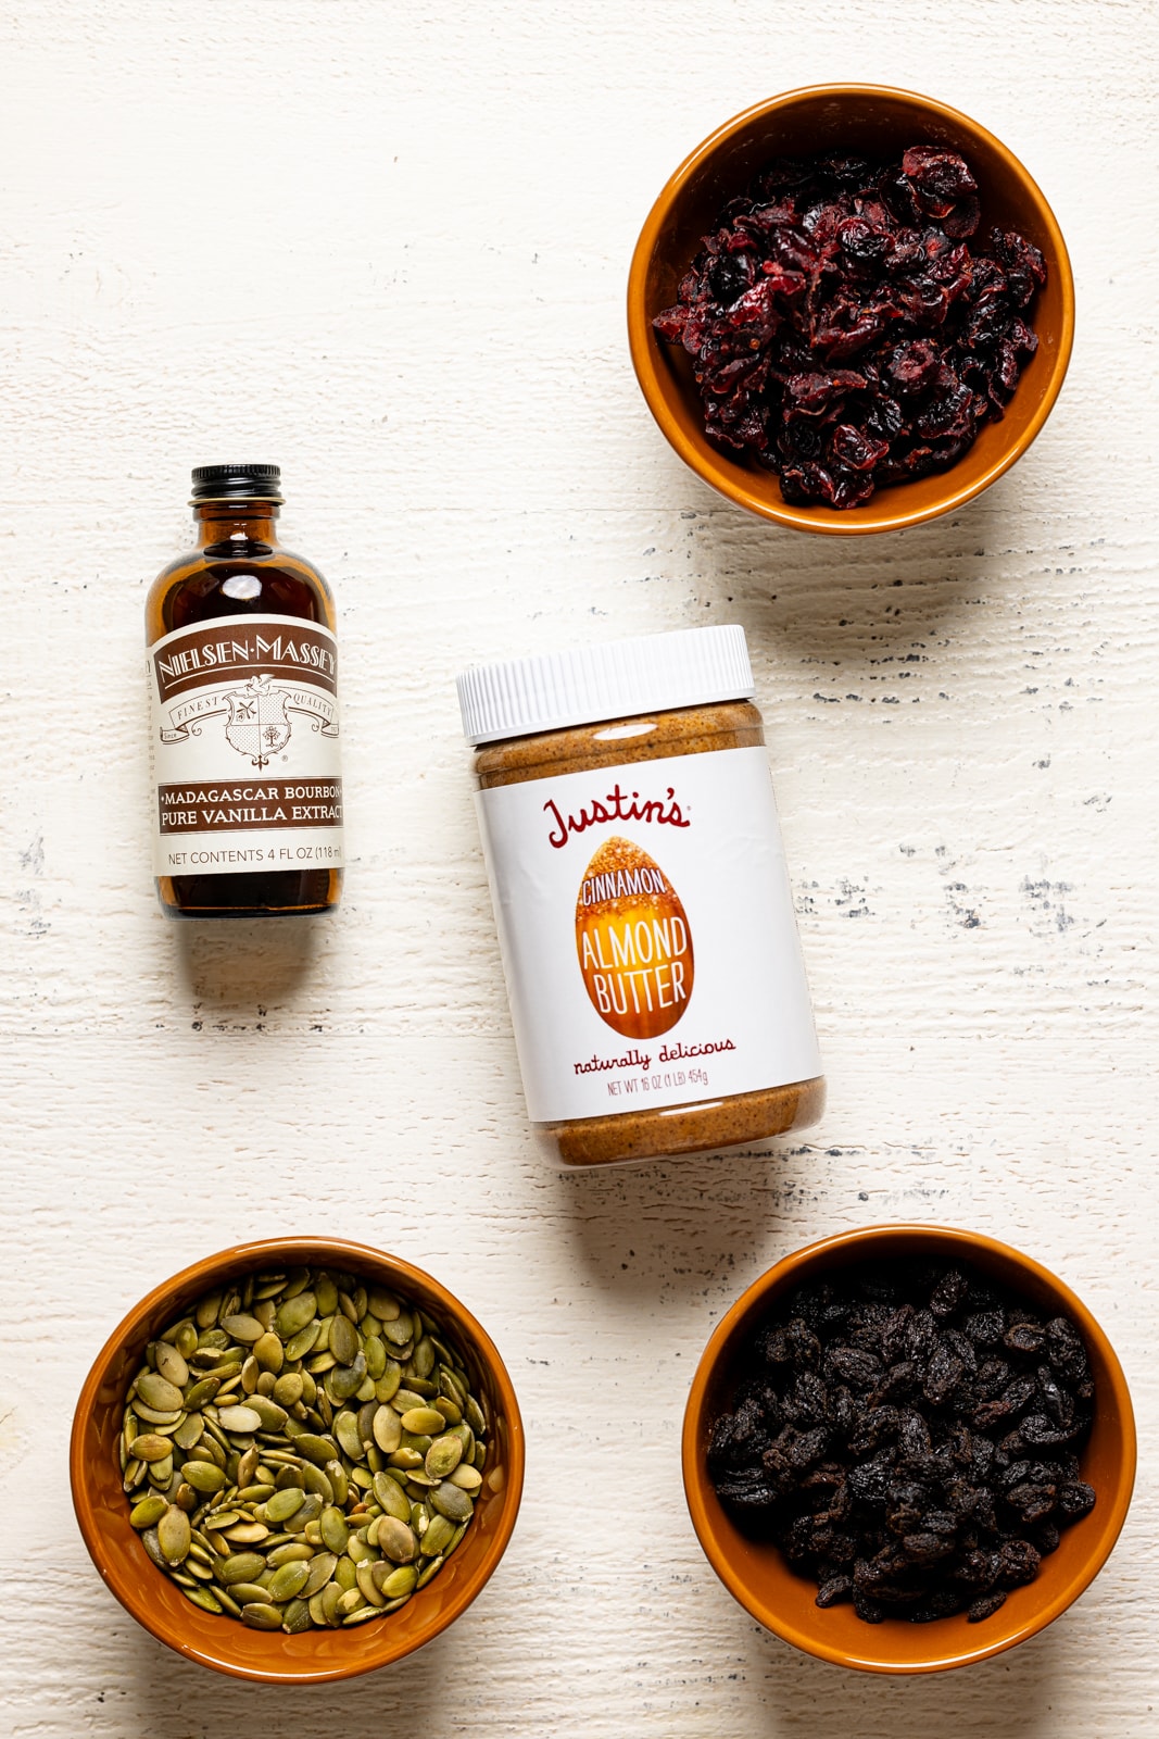
[[[978,1233],[871,1226],[787,1256],[697,1369],[685,1494],[766,1629],[871,1673],[1034,1636],[1095,1579],[1135,1419],[1089,1309]]]

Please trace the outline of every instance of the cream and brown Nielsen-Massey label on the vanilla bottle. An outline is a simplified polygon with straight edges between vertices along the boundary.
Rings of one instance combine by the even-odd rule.
[[[148,652],[160,876],[342,868],[337,642],[233,616]]]

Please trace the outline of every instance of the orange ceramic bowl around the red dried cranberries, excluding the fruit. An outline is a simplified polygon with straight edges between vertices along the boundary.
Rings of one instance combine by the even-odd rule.
[[[678,344],[657,337],[652,318],[676,301],[676,287],[700,250],[700,238],[716,228],[721,207],[744,193],[751,176],[772,158],[832,150],[900,157],[911,144],[945,144],[970,163],[982,198],[982,224],[971,245],[982,243],[999,224],[1018,230],[1043,250],[1048,277],[1032,311],[1039,348],[1003,421],[987,423],[949,471],[881,489],[864,506],[844,511],[791,506],[772,471],[740,456],[730,457],[707,438],[692,358]],[[985,127],[911,90],[811,85],[758,103],[725,122],[679,165],[636,243],[627,282],[627,334],[652,416],[681,459],[721,496],[796,530],[890,532],[961,508],[1027,450],[1058,398],[1070,360],[1074,278],[1046,198],[1018,158]]]

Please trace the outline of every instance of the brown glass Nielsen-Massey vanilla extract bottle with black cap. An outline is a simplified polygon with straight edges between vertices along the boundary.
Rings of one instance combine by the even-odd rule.
[[[280,504],[276,464],[198,466],[196,548],[149,588],[153,870],[174,918],[339,903],[334,598],[280,548]]]

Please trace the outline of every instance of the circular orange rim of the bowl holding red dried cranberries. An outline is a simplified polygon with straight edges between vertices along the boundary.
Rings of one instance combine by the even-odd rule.
[[[851,523],[850,518],[832,508],[824,510],[831,515],[831,518],[820,518],[811,508],[792,506],[787,501],[768,501],[765,496],[759,496],[745,485],[744,466],[735,464],[733,468],[737,475],[733,476],[732,470],[725,470],[725,466],[733,464],[725,454],[705,459],[705,454],[693,447],[683,428],[676,423],[664,403],[664,396],[660,393],[659,351],[653,343],[652,320],[645,306],[648,266],[652,263],[657,240],[664,230],[669,210],[679,193],[683,193],[695,170],[700,169],[721,144],[742,132],[752,122],[775,115],[782,110],[803,106],[805,103],[815,103],[818,99],[832,101],[834,97],[890,97],[891,101],[911,103],[917,110],[937,115],[938,118],[950,122],[954,127],[963,129],[968,136],[983,139],[987,146],[1003,158],[1006,169],[1018,183],[1022,183],[1037,205],[1043,224],[1050,233],[1051,247],[1056,254],[1058,287],[1062,296],[1058,346],[1046,390],[1034,416],[1022,433],[1010,443],[1010,447],[1006,447],[978,478],[970,483],[961,483],[957,489],[950,487],[944,499],[938,499],[924,508],[911,508],[909,511],[905,508],[888,513],[879,511],[876,516],[858,520],[857,523]],[[643,230],[639,231],[627,275],[627,343],[639,390],[645,396],[648,410],[660,428],[660,433],[679,454],[688,470],[695,471],[704,483],[714,489],[719,496],[725,496],[726,501],[747,508],[751,513],[756,513],[759,518],[772,520],[775,525],[785,525],[792,530],[815,532],[820,536],[869,537],[878,532],[905,530],[911,525],[921,525],[928,520],[942,518],[944,513],[952,513],[954,510],[963,508],[968,501],[973,501],[975,496],[980,496],[985,489],[989,489],[990,483],[996,483],[997,478],[1003,476],[1011,464],[1023,456],[1023,452],[1027,452],[1055,409],[1055,402],[1062,391],[1062,384],[1070,365],[1070,351],[1074,348],[1074,271],[1070,268],[1070,254],[1067,252],[1062,228],[1058,226],[1058,219],[1055,217],[1046,195],[1020,158],[1017,158],[1010,146],[1003,144],[1003,141],[992,134],[989,127],[983,127],[963,110],[952,108],[949,103],[942,103],[938,97],[928,97],[919,90],[907,90],[900,85],[798,85],[792,90],[784,90],[780,96],[766,97],[763,103],[754,103],[747,110],[742,110],[738,115],[723,122],[707,136],[707,139],[702,139],[700,144],[688,153],[683,163],[679,163],[679,167],[664,183],[664,188],[657,195],[652,210],[645,219]],[[944,478],[952,478],[954,470],[956,466],[950,466],[949,471],[942,471],[940,475]],[[897,487],[904,489],[905,485]],[[895,490],[890,490],[890,496],[893,497]]]

